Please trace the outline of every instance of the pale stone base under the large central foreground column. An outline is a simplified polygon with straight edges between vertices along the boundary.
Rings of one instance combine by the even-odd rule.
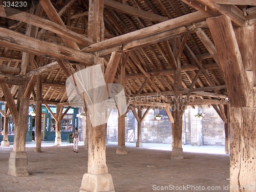
[[[108,191],[114,192],[114,183],[110,174],[83,175],[80,192]]]

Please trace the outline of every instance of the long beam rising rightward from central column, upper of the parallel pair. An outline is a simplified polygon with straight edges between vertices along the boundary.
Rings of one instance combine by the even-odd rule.
[[[82,49],[82,51],[92,53],[105,48],[115,47],[117,45],[126,44],[131,40],[140,39],[140,38],[154,35],[163,31],[168,31],[178,27],[190,25],[196,22],[201,22],[206,18],[207,16],[201,12],[189,13],[187,15],[170,19],[170,20],[167,20],[166,22],[162,22],[160,24],[156,24],[151,27],[146,27],[131,33],[127,33],[124,35],[120,35],[118,37],[113,37],[111,39],[104,40],[102,42],[97,42],[96,44],[93,44],[89,47]]]

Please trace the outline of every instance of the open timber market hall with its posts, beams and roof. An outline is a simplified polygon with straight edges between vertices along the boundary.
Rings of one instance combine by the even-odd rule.
[[[185,109],[212,106],[225,123],[230,186],[255,186],[255,24],[254,0],[39,0],[23,7],[2,0],[2,146],[9,145],[5,125],[10,115],[15,124],[8,174],[29,175],[25,150],[29,106],[36,113],[35,153],[42,151],[42,108],[55,120],[53,137],[55,145],[61,145],[61,120],[75,107],[69,102],[66,80],[100,65],[104,83],[120,84],[126,98],[126,103],[119,103],[127,104],[127,109],[118,117],[116,153],[127,153],[126,113],[132,110],[138,121],[139,147],[147,112],[164,109],[173,123],[170,158],[182,161]],[[97,86],[97,74],[89,76]],[[93,107],[88,105],[110,97],[100,94],[101,88],[94,90],[97,98],[88,99],[84,90],[75,96],[86,103],[88,117],[88,172],[80,191],[115,191],[105,155],[108,111],[94,109],[91,117]],[[100,123],[93,126],[95,120]]]

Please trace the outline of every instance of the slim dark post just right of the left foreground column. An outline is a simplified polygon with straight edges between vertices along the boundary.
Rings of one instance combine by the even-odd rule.
[[[36,147],[35,152],[41,151],[41,130],[42,130],[42,75],[37,76],[36,84],[36,116],[35,116],[35,136]]]

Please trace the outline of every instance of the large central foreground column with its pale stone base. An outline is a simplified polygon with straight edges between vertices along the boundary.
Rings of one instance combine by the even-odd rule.
[[[94,42],[104,39],[103,8],[103,1],[89,0],[88,37]],[[98,58],[97,62],[103,67],[102,58]],[[113,79],[109,79],[109,82],[106,83],[112,83],[111,80],[113,82]],[[105,108],[94,109],[94,117],[97,119],[91,119],[91,121],[100,121],[102,124],[88,130],[88,173],[83,175],[80,192],[115,191],[112,176],[108,173],[106,166]]]

